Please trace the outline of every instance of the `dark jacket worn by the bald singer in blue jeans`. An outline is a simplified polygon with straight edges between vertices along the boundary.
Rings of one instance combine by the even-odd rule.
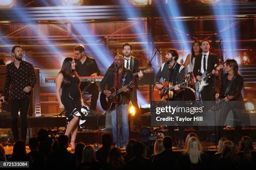
[[[128,85],[130,81],[134,81],[134,78],[133,78],[133,73],[131,70],[127,69],[127,68],[123,68],[123,74],[122,74],[122,78],[121,78],[121,86],[123,86],[122,84],[122,81],[123,81],[123,77],[125,77],[125,74],[126,74],[126,77],[125,77],[125,82],[124,82],[124,85]],[[101,80],[100,82],[100,90],[103,92],[104,90],[110,90],[110,88],[113,87],[113,83],[114,83],[114,80],[115,80],[115,68],[110,68],[108,69],[108,71],[106,72],[106,74],[104,75],[103,79]],[[107,88],[106,88],[106,85],[107,85]],[[133,89],[131,89],[133,90]],[[130,99],[130,93],[123,93],[122,94],[122,103],[129,103],[131,101]]]

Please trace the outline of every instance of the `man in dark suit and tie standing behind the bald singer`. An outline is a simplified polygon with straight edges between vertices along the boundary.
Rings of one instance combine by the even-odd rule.
[[[138,99],[137,99],[137,89],[138,89],[138,80],[141,80],[143,77],[143,73],[139,70],[138,67],[138,58],[133,57],[131,54],[133,53],[132,50],[132,46],[128,43],[125,43],[123,45],[123,55],[124,55],[124,67],[127,69],[132,70],[133,73],[139,72],[138,76],[135,76],[136,78],[134,78],[134,84],[135,84],[135,88],[134,90],[131,92],[131,102],[132,105],[134,107],[135,110],[135,116],[134,116],[134,122],[133,124],[136,126],[136,128],[141,128],[141,111],[140,108],[138,106]],[[113,68],[115,67],[114,63],[112,63],[112,65],[110,65],[109,68]],[[109,69],[108,68],[108,69]]]

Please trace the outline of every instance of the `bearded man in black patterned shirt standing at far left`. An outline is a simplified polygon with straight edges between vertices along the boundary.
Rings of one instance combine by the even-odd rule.
[[[12,48],[14,61],[6,66],[5,87],[0,102],[10,94],[11,123],[15,142],[18,140],[18,112],[20,110],[21,139],[26,143],[27,114],[32,88],[36,85],[36,73],[33,65],[22,60],[22,49],[19,45]]]

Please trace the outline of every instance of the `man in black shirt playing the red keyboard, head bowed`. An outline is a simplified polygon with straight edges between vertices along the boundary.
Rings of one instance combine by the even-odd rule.
[[[100,70],[94,58],[84,54],[84,46],[77,45],[74,47],[76,57],[76,71],[80,77],[96,77],[100,75]],[[89,84],[90,83],[90,84]],[[85,89],[84,89],[85,88]],[[81,91],[88,92],[92,95],[90,110],[96,110],[99,90],[96,83],[81,82]]]

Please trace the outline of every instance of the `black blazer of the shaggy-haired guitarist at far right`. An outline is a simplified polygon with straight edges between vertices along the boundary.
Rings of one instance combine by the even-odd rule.
[[[222,84],[221,84],[221,88],[220,88],[220,95],[224,95],[225,94],[225,82],[228,80],[228,73],[224,74],[222,76]],[[242,96],[242,91],[243,89],[243,77],[241,75],[237,75],[236,79],[233,83],[233,85],[231,86],[228,95],[233,96],[233,99],[231,101],[243,101],[243,96]]]

